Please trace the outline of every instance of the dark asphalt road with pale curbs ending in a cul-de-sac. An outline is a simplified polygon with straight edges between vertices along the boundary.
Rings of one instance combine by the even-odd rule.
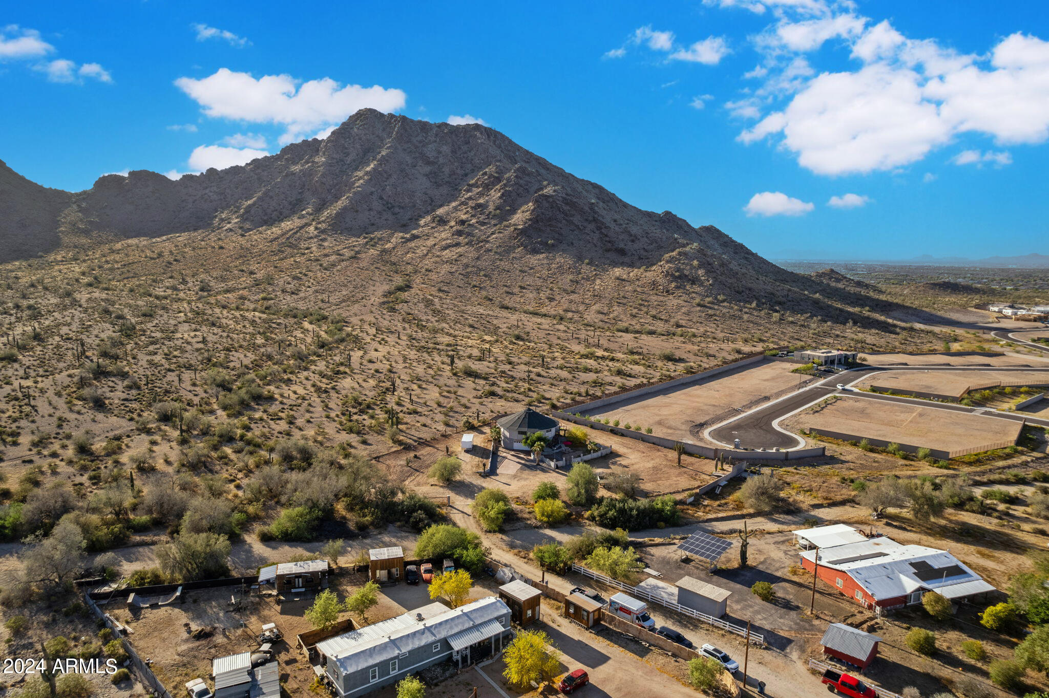
[[[1001,337],[1000,337],[1001,339]],[[775,422],[778,419],[783,419],[798,410],[801,410],[807,405],[818,402],[825,397],[834,395],[835,393],[840,393],[836,386],[838,384],[851,385],[865,375],[869,375],[872,371],[1045,371],[1049,372],[1049,367],[1047,368],[1010,368],[1010,367],[961,367],[961,366],[871,366],[855,369],[852,371],[845,371],[843,373],[832,375],[819,383],[810,386],[808,388],[802,388],[796,393],[791,393],[787,397],[780,398],[769,402],[768,405],[762,406],[757,409],[751,410],[738,417],[734,417],[729,421],[723,422],[707,430],[707,436],[714,441],[724,443],[726,445],[731,445],[735,439],[740,439],[740,443],[746,449],[796,449],[805,444],[805,441],[793,434],[786,431],[782,431],[776,428]],[[900,397],[897,395],[880,395],[877,393],[865,393],[860,391],[851,391],[850,395],[856,397],[862,397],[868,399],[883,400],[886,402],[900,402],[900,403],[915,403],[918,402],[922,407],[936,408],[941,410],[950,410],[955,412],[968,412],[968,413],[987,413],[993,414],[994,416],[1004,417],[1006,419],[1013,419],[1015,421],[1026,420],[1028,423],[1040,424],[1042,427],[1049,427],[1049,419],[1037,419],[1035,417],[1029,417],[1024,415],[1009,414],[1005,412],[997,412],[994,410],[982,410],[981,408],[968,408],[962,405],[945,403],[945,402],[933,402],[929,400],[918,400],[915,398]]]

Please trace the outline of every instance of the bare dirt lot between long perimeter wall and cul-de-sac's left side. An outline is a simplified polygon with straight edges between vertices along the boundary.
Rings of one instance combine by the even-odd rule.
[[[658,436],[694,440],[689,428],[728,410],[797,386],[799,378],[785,362],[762,362],[713,376],[685,388],[668,388],[640,398],[613,402],[592,415],[619,420],[635,428],[651,427]]]

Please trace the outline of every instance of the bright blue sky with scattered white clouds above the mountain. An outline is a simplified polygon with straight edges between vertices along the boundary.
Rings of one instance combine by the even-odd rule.
[[[36,5],[0,22],[0,159],[49,187],[372,106],[483,119],[769,257],[1049,253],[1049,3]]]

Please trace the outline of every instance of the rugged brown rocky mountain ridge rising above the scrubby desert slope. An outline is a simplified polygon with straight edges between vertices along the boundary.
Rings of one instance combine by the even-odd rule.
[[[0,260],[61,244],[279,228],[284,242],[378,235],[404,260],[537,266],[559,275],[585,264],[647,287],[798,307],[810,305],[799,292],[820,286],[713,226],[631,206],[493,129],[370,109],[323,140],[177,181],[133,171],[68,194],[9,170],[0,175],[0,205],[17,206],[5,216]]]

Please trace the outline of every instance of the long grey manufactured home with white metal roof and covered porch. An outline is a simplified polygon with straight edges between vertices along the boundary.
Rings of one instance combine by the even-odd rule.
[[[458,667],[500,652],[510,608],[488,596],[457,609],[430,604],[317,644],[339,696],[360,696],[441,661]]]

